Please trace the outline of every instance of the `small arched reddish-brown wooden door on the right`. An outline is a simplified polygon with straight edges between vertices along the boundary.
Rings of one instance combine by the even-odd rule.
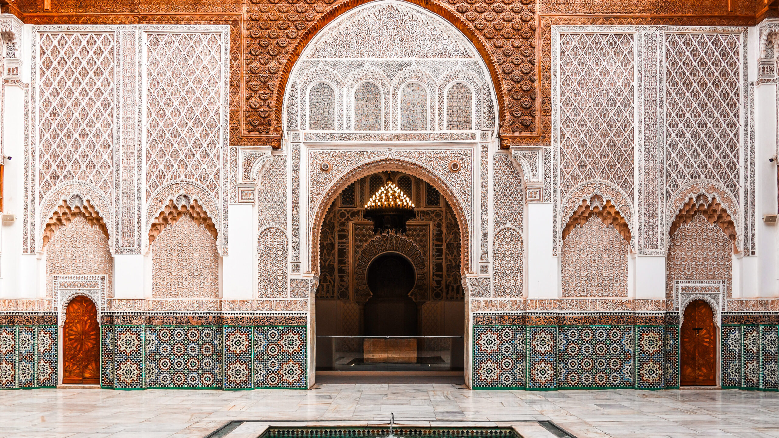
[[[683,386],[717,384],[717,328],[707,302],[693,301],[684,311],[681,359]]]

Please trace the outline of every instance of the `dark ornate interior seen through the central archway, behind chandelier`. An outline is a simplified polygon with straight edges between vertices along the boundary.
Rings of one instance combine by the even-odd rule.
[[[405,232],[376,233],[365,205],[393,182]],[[348,185],[323,218],[315,301],[317,376],[458,376],[465,362],[460,224],[445,196],[400,172]]]

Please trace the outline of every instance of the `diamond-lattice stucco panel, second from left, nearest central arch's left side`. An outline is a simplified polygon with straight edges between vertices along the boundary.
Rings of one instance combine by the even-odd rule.
[[[146,196],[187,179],[219,199],[221,51],[220,34],[149,34]]]

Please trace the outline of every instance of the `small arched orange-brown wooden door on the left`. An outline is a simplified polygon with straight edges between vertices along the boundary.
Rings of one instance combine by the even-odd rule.
[[[100,327],[90,298],[73,298],[62,330],[62,383],[100,383]]]

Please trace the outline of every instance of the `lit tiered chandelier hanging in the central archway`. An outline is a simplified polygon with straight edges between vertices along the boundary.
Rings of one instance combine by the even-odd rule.
[[[365,219],[373,221],[374,234],[406,233],[406,221],[417,217],[414,203],[392,181],[379,187],[365,204]]]

